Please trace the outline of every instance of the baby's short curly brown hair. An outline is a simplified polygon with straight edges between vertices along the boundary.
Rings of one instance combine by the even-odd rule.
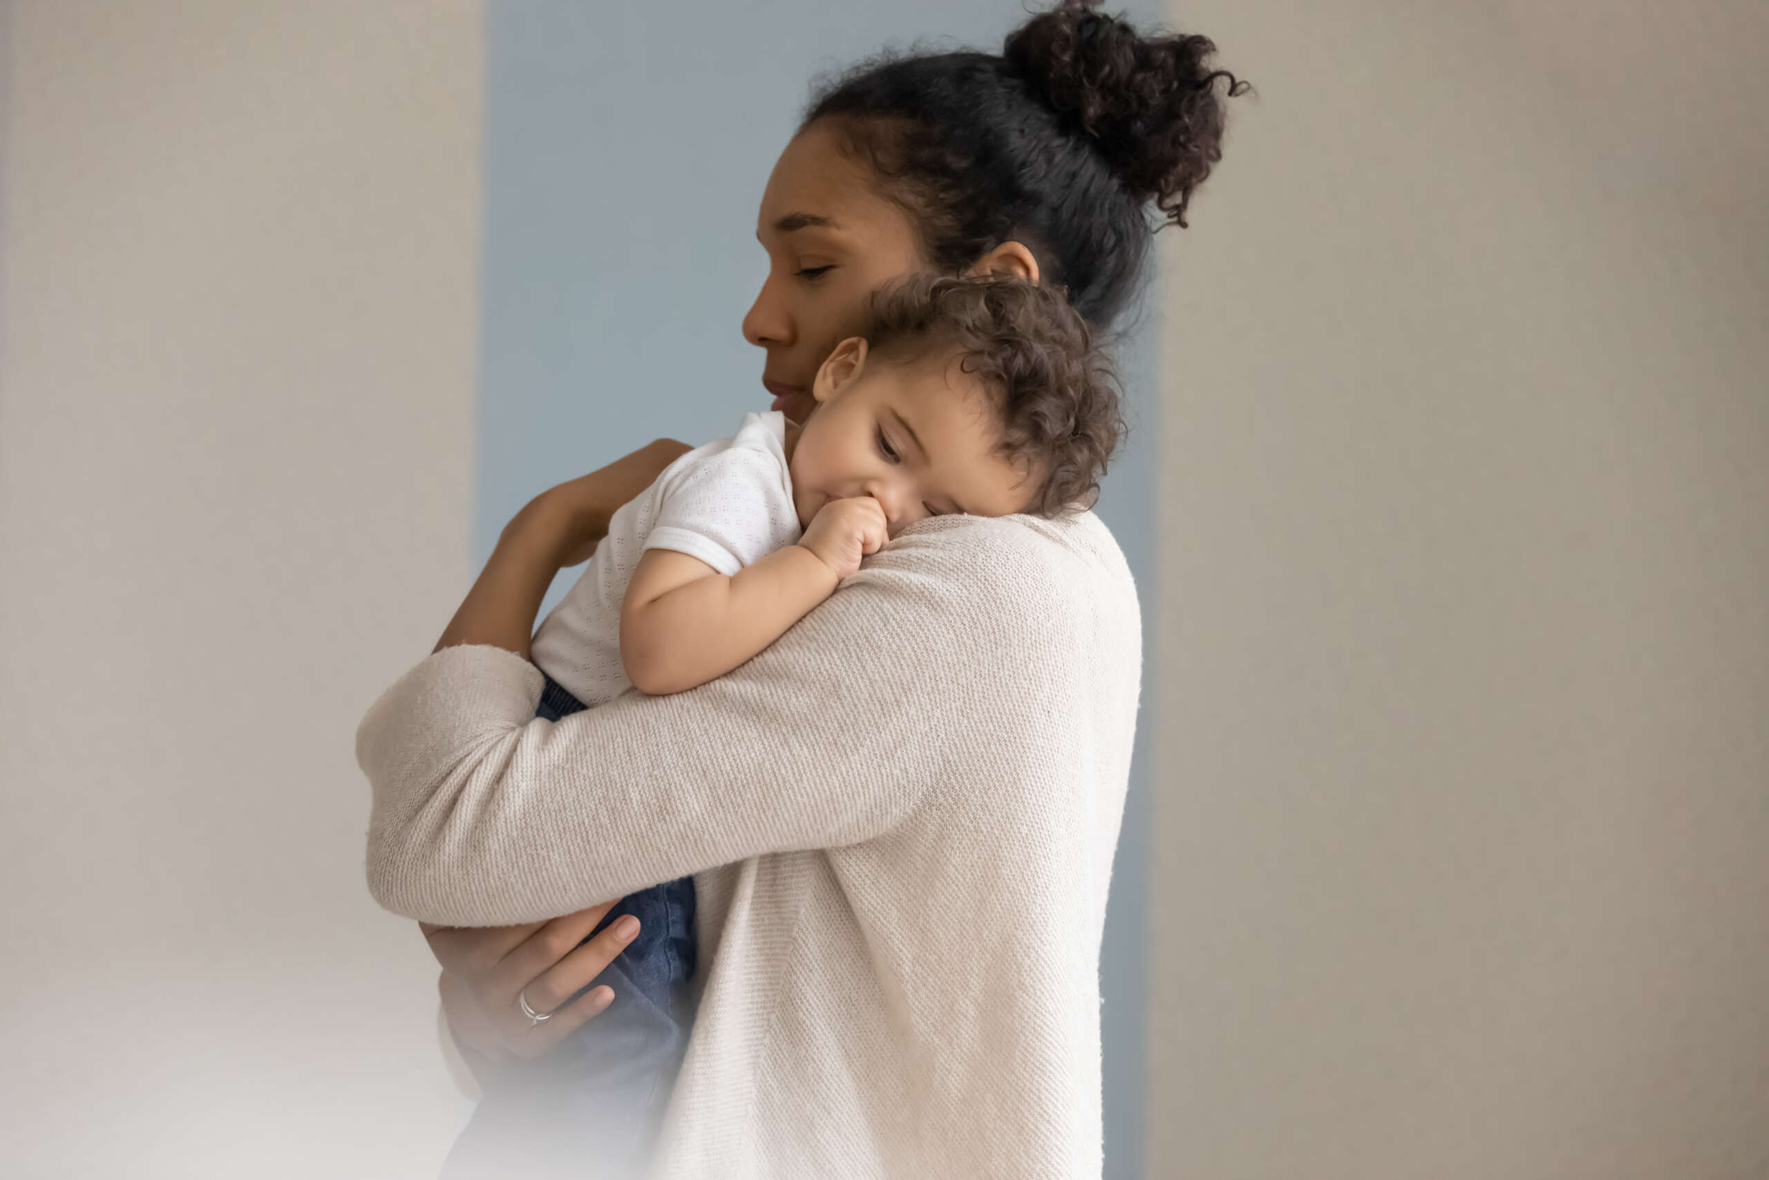
[[[1116,372],[1061,288],[915,274],[872,294],[867,345],[886,363],[911,349],[957,350],[992,400],[998,453],[1037,479],[1024,511],[1060,517],[1095,504],[1125,423]]]

